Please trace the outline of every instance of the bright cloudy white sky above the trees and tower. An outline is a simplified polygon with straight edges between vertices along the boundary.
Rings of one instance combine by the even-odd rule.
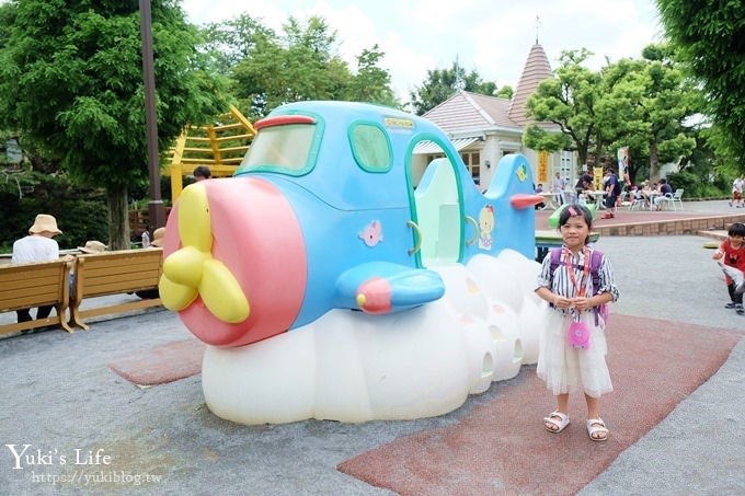
[[[195,24],[248,13],[277,33],[289,16],[321,16],[353,71],[355,57],[378,44],[379,67],[402,102],[427,70],[456,58],[497,88],[516,88],[536,38],[552,68],[562,50],[587,48],[595,55],[586,66],[598,70],[606,59],[639,58],[662,34],[654,0],[182,0],[182,8]]]

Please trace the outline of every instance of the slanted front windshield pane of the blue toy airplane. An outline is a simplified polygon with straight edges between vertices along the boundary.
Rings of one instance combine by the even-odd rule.
[[[276,171],[298,175],[309,163],[316,126],[285,124],[264,127],[256,135],[236,174],[245,171]]]

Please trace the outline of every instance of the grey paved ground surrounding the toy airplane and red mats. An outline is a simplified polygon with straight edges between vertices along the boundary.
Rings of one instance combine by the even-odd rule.
[[[725,201],[686,207],[729,209]],[[583,480],[582,468],[572,466],[572,452],[563,459],[545,459],[537,453],[529,462],[536,473],[543,466],[553,466],[562,474],[576,470],[581,495],[745,493],[745,431],[740,418],[745,410],[745,343],[741,338],[745,316],[723,309],[726,289],[711,250],[703,247],[707,241],[710,239],[698,235],[610,237],[601,238],[597,245],[612,261],[621,290],[621,299],[612,309],[617,322],[653,319],[660,331],[673,336],[683,325],[700,326],[711,339],[735,335],[738,342],[729,359],[592,480]],[[623,331],[614,327],[614,332]],[[500,394],[519,391],[520,381],[535,376],[535,367],[525,366],[517,378],[494,383],[461,408],[436,418],[241,426],[208,411],[199,374],[139,388],[108,367],[119,357],[191,337],[175,314],[150,309],[101,320],[90,332],[68,335],[50,331],[0,339],[3,494],[413,494],[369,485],[337,466],[417,435],[443,432],[445,437],[483,408],[494,408],[493,415],[500,415],[494,406]],[[696,362],[697,353],[692,351],[675,359]],[[640,368],[647,359],[639,357]],[[634,392],[639,404],[657,400],[650,393],[647,380],[653,378],[642,377]],[[614,394],[604,402],[612,403]],[[620,406],[633,415],[634,404]],[[541,436],[546,434],[540,423],[545,413],[523,412],[535,416],[535,429]],[[583,428],[577,420],[576,432]],[[616,424],[620,422],[616,419]],[[611,436],[622,438],[624,432],[611,427]],[[541,439],[547,451],[562,442],[549,434]],[[603,453],[609,449],[588,440],[582,446],[591,455],[591,450]],[[509,458],[509,453],[498,452],[471,454]],[[438,453],[416,460],[420,472],[415,475],[427,476],[428,460],[434,466]],[[462,464],[463,472],[470,466],[463,460],[450,462]],[[531,472],[530,466],[522,470]],[[466,474],[463,484],[455,487],[459,488],[433,494],[478,494],[469,488]],[[492,489],[479,493],[562,494],[550,480],[506,491],[494,484]]]

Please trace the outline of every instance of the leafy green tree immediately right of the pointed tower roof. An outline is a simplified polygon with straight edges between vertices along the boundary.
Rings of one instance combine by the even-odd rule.
[[[574,147],[580,164],[587,163],[589,147],[596,139],[595,114],[601,82],[600,74],[583,66],[591,55],[585,48],[562,51],[555,78],[541,81],[528,99],[526,115],[540,124],[526,128],[526,147],[546,151]]]

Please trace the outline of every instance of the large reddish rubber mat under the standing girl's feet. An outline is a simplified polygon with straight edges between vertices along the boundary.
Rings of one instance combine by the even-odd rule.
[[[492,384],[494,399],[458,424],[401,438],[337,470],[400,495],[575,494],[717,372],[740,337],[614,314],[607,339],[615,391],[601,401],[607,441],[589,440],[581,393],[570,396],[570,426],[545,430],[554,399],[530,366]]]

